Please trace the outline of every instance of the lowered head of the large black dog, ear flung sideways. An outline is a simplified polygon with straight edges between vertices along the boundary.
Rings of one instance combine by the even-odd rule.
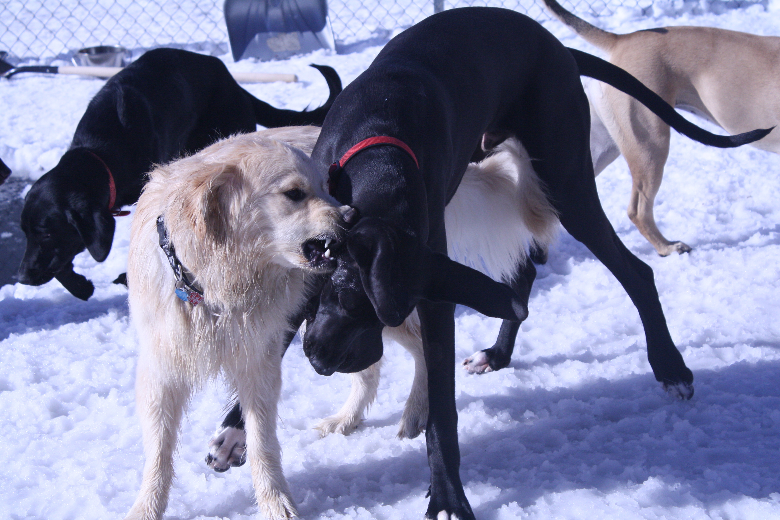
[[[322,289],[303,352],[323,375],[364,370],[382,356],[382,328],[402,324],[420,299],[460,303],[505,320],[528,315],[508,285],[434,253],[381,219],[363,218]]]

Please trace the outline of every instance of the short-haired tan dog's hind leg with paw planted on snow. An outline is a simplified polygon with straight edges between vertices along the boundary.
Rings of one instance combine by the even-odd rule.
[[[653,90],[659,91],[658,88]],[[611,129],[610,133],[615,136],[631,170],[633,185],[628,207],[629,218],[659,255],[689,253],[690,246],[679,241],[669,241],[661,235],[653,215],[655,196],[661,187],[669,154],[668,125],[626,94],[612,91],[607,97],[616,119],[613,124],[618,126],[617,132]],[[669,104],[674,104],[674,96],[667,94],[661,97]],[[610,126],[608,122],[605,123]]]

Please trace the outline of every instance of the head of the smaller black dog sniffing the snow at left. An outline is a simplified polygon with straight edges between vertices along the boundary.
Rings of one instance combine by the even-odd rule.
[[[114,227],[105,166],[86,150],[70,150],[25,197],[21,228],[27,249],[19,281],[41,285],[69,274],[73,257],[85,247],[102,262],[111,250]]]

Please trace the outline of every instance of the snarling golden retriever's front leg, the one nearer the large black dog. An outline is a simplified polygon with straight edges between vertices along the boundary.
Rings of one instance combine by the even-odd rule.
[[[293,518],[297,515],[295,501],[282,472],[282,448],[276,437],[277,402],[282,389],[281,345],[254,348],[249,356],[236,356],[236,366],[229,376],[241,402],[246,458],[252,469],[257,507],[271,520]]]

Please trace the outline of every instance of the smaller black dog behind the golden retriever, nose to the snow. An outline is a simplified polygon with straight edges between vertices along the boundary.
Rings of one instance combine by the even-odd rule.
[[[252,96],[213,56],[168,48],[142,55],[90,101],[70,149],[27,194],[19,280],[41,285],[57,278],[76,297],[89,298],[94,287],[73,272],[73,257],[86,247],[95,260],[105,260],[116,210],[138,200],[151,165],[254,132],[257,124],[321,125],[341,80],[331,67],[312,66],[328,81],[330,97],[320,108],[299,112]]]

